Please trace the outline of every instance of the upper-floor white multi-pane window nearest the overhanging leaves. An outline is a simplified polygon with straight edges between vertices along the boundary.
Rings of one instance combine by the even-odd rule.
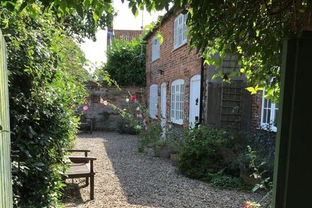
[[[174,20],[174,49],[186,43],[186,14],[179,14]]]

